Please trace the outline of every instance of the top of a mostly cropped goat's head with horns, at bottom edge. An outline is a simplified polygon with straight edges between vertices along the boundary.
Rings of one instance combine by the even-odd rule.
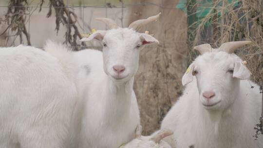
[[[169,129],[162,129],[153,136],[142,136],[142,127],[136,128],[135,139],[120,148],[171,148],[163,138],[172,135]]]

